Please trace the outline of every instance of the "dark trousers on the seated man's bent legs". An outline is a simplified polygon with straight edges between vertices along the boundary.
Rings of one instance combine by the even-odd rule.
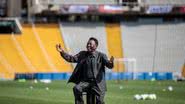
[[[94,82],[80,82],[73,87],[75,104],[84,104],[82,93],[89,91],[95,95],[96,104],[104,104],[105,93],[102,93]]]

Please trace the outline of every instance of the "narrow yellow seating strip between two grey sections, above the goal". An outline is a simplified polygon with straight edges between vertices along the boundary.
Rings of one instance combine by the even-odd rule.
[[[121,40],[121,27],[119,23],[106,23],[106,34],[107,34],[107,47],[109,52],[109,57],[114,56],[115,58],[124,58],[122,50],[122,40]],[[123,63],[116,63],[114,70],[115,72],[123,72],[125,66]]]

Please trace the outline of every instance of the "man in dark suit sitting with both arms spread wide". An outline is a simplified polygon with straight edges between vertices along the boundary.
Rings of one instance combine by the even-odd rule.
[[[87,51],[81,51],[75,56],[69,55],[61,48],[60,44],[56,49],[60,55],[68,62],[77,63],[68,82],[76,85],[73,88],[75,104],[84,104],[82,92],[91,90],[95,94],[96,104],[104,104],[106,88],[105,66],[113,68],[114,57],[110,60],[104,53],[96,51],[98,40],[94,37],[89,38],[86,48]]]

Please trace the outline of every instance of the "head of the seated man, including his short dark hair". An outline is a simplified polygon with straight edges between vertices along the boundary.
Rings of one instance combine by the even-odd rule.
[[[89,38],[86,46],[87,51],[94,52],[96,51],[97,47],[98,47],[98,40],[94,37]]]

